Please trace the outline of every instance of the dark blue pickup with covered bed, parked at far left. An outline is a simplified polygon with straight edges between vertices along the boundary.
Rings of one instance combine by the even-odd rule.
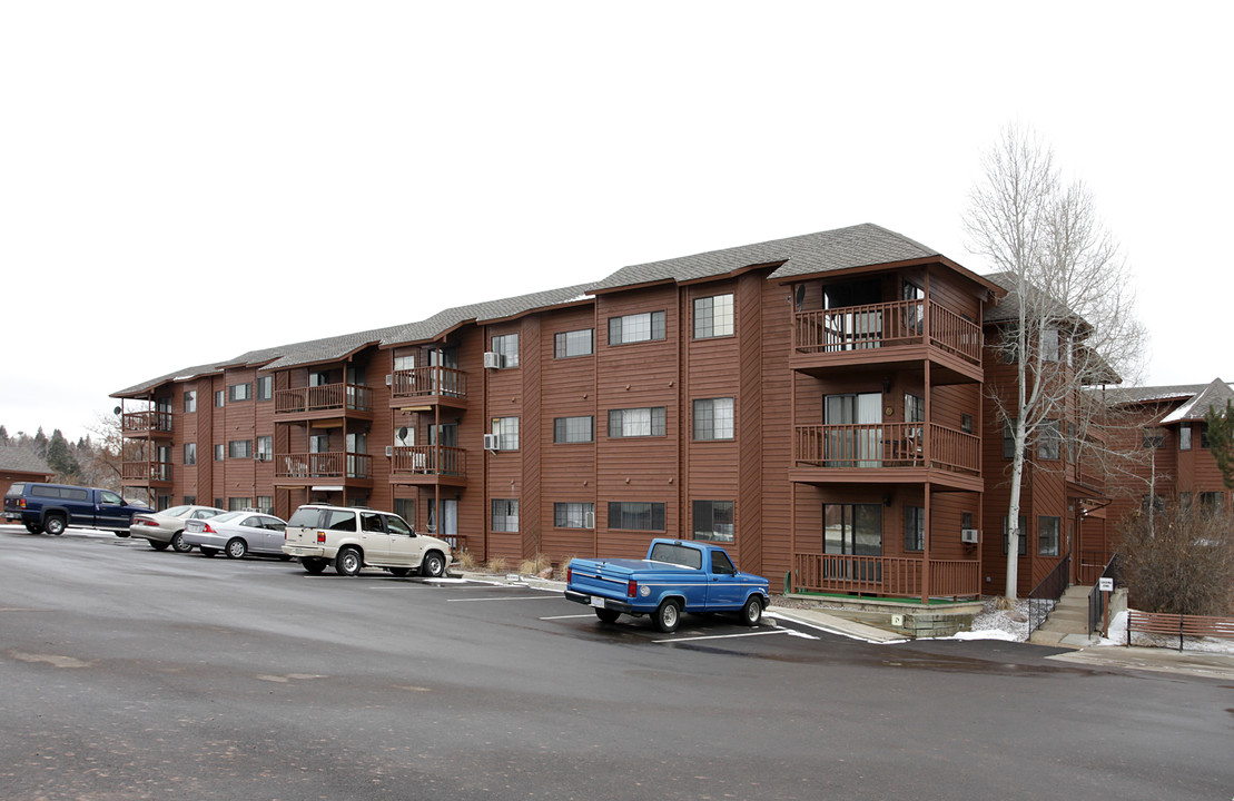
[[[127,504],[111,490],[67,484],[17,483],[4,496],[4,518],[25,523],[32,534],[63,534],[69,526],[81,526],[127,537],[133,515],[152,511],[149,506]]]

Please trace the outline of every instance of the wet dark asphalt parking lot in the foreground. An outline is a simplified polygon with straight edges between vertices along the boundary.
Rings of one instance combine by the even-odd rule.
[[[1214,799],[1222,683],[0,528],[15,799]],[[1043,778],[1048,778],[1048,781]]]

